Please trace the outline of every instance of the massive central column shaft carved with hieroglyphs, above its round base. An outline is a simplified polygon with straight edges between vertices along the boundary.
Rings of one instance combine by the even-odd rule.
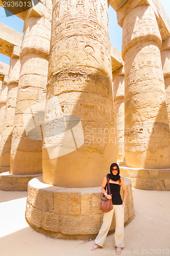
[[[107,0],[54,0],[43,181],[100,186],[116,160]]]

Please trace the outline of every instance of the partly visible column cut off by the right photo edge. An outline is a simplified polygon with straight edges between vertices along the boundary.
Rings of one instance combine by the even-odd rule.
[[[162,69],[166,91],[166,106],[170,125],[170,37],[163,41],[161,50]]]

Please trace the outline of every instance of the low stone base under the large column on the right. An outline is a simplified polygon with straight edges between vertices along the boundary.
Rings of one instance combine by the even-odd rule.
[[[170,191],[170,169],[142,169],[120,166],[120,175],[129,178],[134,188]]]

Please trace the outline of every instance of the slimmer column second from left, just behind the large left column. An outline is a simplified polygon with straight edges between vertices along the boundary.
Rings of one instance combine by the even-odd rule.
[[[18,79],[20,72],[19,47],[14,46],[10,60],[8,76],[8,93],[4,127],[0,144],[0,167],[10,167],[11,140],[15,115],[16,95],[18,90]]]

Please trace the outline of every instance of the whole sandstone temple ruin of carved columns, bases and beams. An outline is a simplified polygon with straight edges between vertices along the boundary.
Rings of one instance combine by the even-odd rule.
[[[109,5],[122,53],[110,45]],[[23,35],[0,23],[0,53],[10,57],[0,62],[0,189],[28,189],[26,219],[37,231],[93,238],[102,180],[117,162],[127,224],[132,187],[170,190],[170,22],[161,4],[42,0],[16,15]]]

